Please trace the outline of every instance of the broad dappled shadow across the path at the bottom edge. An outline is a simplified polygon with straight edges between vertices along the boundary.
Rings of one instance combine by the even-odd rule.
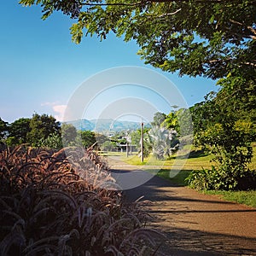
[[[166,255],[256,255],[254,238],[181,228],[164,233],[168,240],[161,252]]]

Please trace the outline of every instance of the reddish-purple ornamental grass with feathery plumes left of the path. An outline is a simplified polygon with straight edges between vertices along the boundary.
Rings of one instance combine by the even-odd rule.
[[[114,189],[93,151],[5,148],[0,153],[1,255],[149,255],[159,233],[139,203]],[[102,184],[112,185],[103,189]]]

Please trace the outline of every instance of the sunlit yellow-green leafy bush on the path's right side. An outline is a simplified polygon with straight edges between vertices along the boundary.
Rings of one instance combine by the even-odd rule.
[[[189,185],[197,189],[253,189],[256,185],[250,180],[254,172],[248,168],[253,157],[252,129],[251,122],[226,114],[221,123],[209,123],[207,129],[198,132],[195,141],[215,155],[216,165],[212,170],[192,172]]]

